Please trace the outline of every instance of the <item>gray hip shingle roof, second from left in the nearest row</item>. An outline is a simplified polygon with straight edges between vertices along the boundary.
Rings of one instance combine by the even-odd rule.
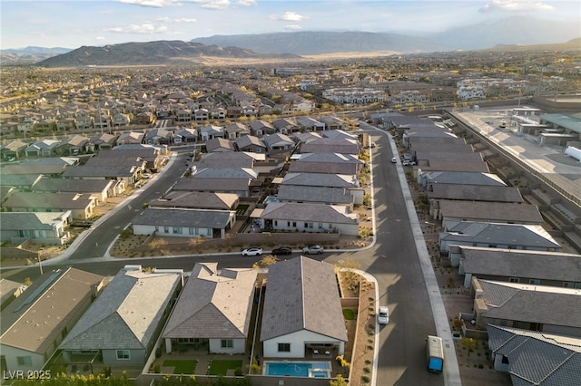
[[[64,350],[144,349],[182,282],[178,273],[122,269],[61,343]]]

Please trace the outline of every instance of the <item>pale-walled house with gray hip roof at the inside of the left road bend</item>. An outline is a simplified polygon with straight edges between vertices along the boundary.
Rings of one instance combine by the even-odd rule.
[[[133,235],[224,238],[235,220],[233,210],[148,207],[133,217]]]

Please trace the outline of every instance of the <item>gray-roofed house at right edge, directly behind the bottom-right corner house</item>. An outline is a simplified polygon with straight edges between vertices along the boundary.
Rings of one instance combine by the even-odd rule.
[[[488,324],[581,338],[581,292],[472,279],[475,327]]]

